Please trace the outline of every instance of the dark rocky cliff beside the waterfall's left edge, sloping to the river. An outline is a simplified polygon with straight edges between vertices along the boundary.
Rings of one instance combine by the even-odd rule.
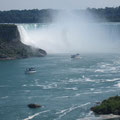
[[[16,25],[0,25],[0,59],[42,57],[47,53],[42,49],[31,48],[20,41]]]

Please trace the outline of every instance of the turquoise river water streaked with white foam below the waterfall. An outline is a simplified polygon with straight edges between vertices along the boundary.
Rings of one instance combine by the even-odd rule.
[[[35,67],[35,74],[25,69]],[[120,95],[120,54],[51,54],[0,61],[0,120],[97,120],[90,107]],[[30,109],[30,103],[42,105]]]

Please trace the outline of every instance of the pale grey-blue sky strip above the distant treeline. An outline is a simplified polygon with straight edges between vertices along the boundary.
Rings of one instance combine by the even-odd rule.
[[[0,10],[11,9],[84,9],[120,6],[120,0],[0,0]]]

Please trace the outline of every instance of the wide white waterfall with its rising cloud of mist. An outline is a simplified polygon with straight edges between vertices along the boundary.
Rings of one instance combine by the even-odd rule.
[[[59,19],[58,19],[59,18]],[[51,24],[18,25],[22,42],[48,53],[118,52],[120,24],[90,23],[63,15]]]

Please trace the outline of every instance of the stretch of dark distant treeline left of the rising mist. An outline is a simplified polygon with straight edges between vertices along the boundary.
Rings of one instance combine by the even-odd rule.
[[[10,10],[0,11],[0,23],[42,23],[52,21],[55,10]],[[52,14],[51,14],[52,13]]]

